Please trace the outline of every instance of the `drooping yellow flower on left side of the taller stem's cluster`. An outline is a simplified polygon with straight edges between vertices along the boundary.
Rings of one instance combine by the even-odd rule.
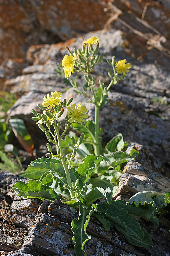
[[[62,67],[65,73],[65,78],[68,78],[71,76],[71,72],[73,73],[74,71],[74,65],[75,65],[75,58],[73,55],[70,53],[70,55],[65,55],[63,60],[62,60]]]

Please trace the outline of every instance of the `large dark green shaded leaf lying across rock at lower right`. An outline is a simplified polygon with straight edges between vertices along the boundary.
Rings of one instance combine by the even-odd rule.
[[[137,223],[136,218],[133,215],[128,214],[123,208],[117,208],[114,202],[111,202],[110,205],[106,202],[98,203],[96,210],[99,213],[105,214],[105,217],[109,219],[111,224],[122,232],[126,239],[133,245],[142,246],[148,249],[152,244],[149,234],[148,240],[145,241],[145,234],[143,230],[141,230],[140,224]]]

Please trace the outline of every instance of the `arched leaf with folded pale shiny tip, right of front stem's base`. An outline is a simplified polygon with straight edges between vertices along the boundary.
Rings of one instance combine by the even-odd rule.
[[[97,199],[105,197],[108,204],[112,201],[112,193],[110,187],[93,187],[92,190],[86,195],[86,205],[91,205]]]

